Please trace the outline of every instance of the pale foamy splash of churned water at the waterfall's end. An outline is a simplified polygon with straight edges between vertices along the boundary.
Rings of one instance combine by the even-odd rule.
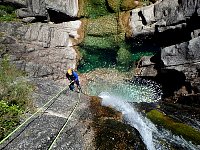
[[[88,88],[90,95],[108,92],[129,102],[155,102],[162,96],[158,84],[141,78],[127,82],[90,82]]]

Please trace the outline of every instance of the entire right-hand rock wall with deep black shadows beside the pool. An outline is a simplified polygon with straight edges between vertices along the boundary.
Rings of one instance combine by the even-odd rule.
[[[200,92],[194,90],[199,89],[200,78],[199,4],[199,0],[162,0],[130,13],[133,41],[149,40],[160,47],[155,56],[141,58],[135,74],[154,77],[168,96],[183,87],[190,94]]]

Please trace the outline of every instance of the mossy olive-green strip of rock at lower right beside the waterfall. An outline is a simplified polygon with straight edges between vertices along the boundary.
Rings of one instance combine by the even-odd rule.
[[[180,122],[175,122],[173,119],[157,110],[148,112],[147,117],[155,124],[171,130],[174,134],[182,135],[185,139],[195,144],[200,144],[200,132],[197,129]]]

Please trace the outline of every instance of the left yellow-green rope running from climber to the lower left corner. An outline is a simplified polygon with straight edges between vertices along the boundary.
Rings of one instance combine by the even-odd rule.
[[[70,83],[71,84],[71,83]],[[70,85],[69,84],[69,85]],[[32,116],[30,116],[28,119],[26,119],[21,125],[19,125],[14,131],[12,131],[10,134],[8,134],[1,142],[0,145],[3,144],[9,137],[11,137],[15,132],[17,132],[23,125],[25,125],[31,118],[33,118],[34,116],[36,116],[36,114],[38,114],[40,111],[43,110],[43,108],[45,106],[47,106],[53,99],[57,98],[64,90],[66,90],[68,88],[65,87],[63,88],[58,94],[56,94],[53,98],[51,98],[46,104],[44,104],[42,107],[40,107],[40,109],[38,109]]]

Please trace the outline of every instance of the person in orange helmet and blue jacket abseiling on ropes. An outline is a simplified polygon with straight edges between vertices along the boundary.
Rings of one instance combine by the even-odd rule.
[[[74,89],[75,89],[74,84],[76,84],[77,88],[79,90],[78,92],[80,92],[81,87],[80,87],[80,83],[79,83],[79,79],[78,79],[78,74],[73,69],[70,68],[67,70],[66,78],[70,81],[69,89],[71,91],[74,91]]]

